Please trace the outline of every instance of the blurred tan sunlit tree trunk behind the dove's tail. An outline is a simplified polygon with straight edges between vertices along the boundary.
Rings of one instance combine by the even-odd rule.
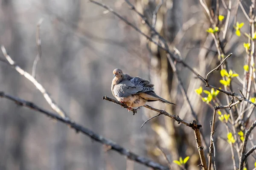
[[[155,10],[156,6],[158,3],[161,3],[161,1],[137,1],[137,9],[140,10],[141,13],[143,13],[146,17],[147,20],[152,23],[152,18],[153,18],[153,11]],[[172,2],[167,2],[167,3],[172,3]],[[164,35],[164,27],[163,24],[165,23],[165,17],[166,16],[166,10],[171,11],[171,9],[167,8],[166,4],[163,3],[159,11],[157,12],[157,20],[156,20],[156,25],[155,29],[160,32],[162,36],[165,37]],[[180,8],[175,8],[175,10],[180,10]],[[173,11],[173,12],[177,12]],[[167,12],[168,14],[168,12]],[[173,15],[172,12],[169,12],[170,15]],[[167,20],[168,24],[171,24],[175,30],[179,30],[179,25],[175,23],[180,23],[180,17],[175,18],[175,16],[170,17],[170,20]],[[141,23],[141,22],[140,22]],[[148,33],[151,31],[145,24],[140,24],[140,29],[141,30],[147,30]],[[177,31],[170,32],[171,34],[168,34],[167,39],[172,39],[171,37],[175,37],[177,34]],[[168,31],[169,32],[169,31]],[[142,37],[142,42],[145,42],[143,40],[144,37]],[[157,38],[154,37],[154,39],[157,41]],[[145,44],[146,45],[146,44]],[[170,97],[170,90],[172,86],[172,68],[169,64],[169,61],[166,57],[166,53],[163,50],[160,50],[157,45],[154,45],[151,42],[148,42],[148,47],[151,52],[151,66],[150,66],[150,78],[151,82],[155,85],[155,92],[162,96],[163,98],[171,101]],[[153,107],[159,108],[159,109],[165,109],[167,112],[172,114],[172,105],[167,105],[167,104],[162,104],[159,102],[152,102],[150,103]],[[152,111],[148,111],[148,115],[154,116],[156,113]],[[169,150],[172,160],[178,158],[178,153],[177,153],[177,142],[176,142],[176,137],[175,137],[175,126],[174,126],[174,121],[172,119],[168,118],[163,118],[166,128],[163,128],[160,125],[161,118],[158,119],[153,119],[151,120],[151,127],[152,129],[157,133],[157,136],[155,139],[159,139],[158,142],[160,142],[161,147],[165,147],[166,149]],[[162,120],[163,120],[162,119]],[[157,141],[156,141],[157,142]],[[150,152],[152,148],[149,149]],[[151,153],[155,155],[155,153]]]

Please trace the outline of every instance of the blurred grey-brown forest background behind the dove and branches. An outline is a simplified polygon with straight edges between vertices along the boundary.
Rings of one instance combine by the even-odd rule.
[[[223,0],[229,3],[229,0]],[[233,2],[225,46],[229,67],[243,74],[246,55],[243,42],[246,37],[232,36],[235,18],[245,22],[244,31],[249,30],[246,18]],[[194,118],[184,102],[166,54],[149,43],[122,20],[104,8],[88,0],[0,0],[0,44],[21,68],[32,72],[38,53],[36,25],[41,18],[42,57],[37,65],[36,79],[46,88],[52,99],[68,113],[74,121],[94,132],[111,139],[132,152],[167,165],[157,147],[163,148],[169,160],[190,156],[188,170],[199,170],[200,159],[193,130],[177,124],[166,116],[159,116],[140,126],[150,116],[157,114],[146,108],[133,116],[119,105],[102,100],[102,96],[113,98],[111,81],[113,69],[150,79],[157,94],[177,104],[160,102],[149,105],[179,114],[181,119],[191,122]],[[109,5],[126,20],[140,28],[145,34],[149,29],[124,0],[99,1]],[[152,14],[159,0],[131,0],[140,12],[152,21]],[[249,11],[248,0],[242,4]],[[206,0],[213,9],[216,0]],[[219,2],[219,14],[227,16]],[[199,0],[164,0],[157,13],[156,30],[169,42],[175,53],[180,51],[186,63],[205,76],[218,65],[218,53],[212,36],[206,32],[210,23]],[[177,51],[176,51],[177,52]],[[3,54],[0,54],[3,57]],[[204,84],[187,68],[177,64],[177,73],[189,96],[192,108],[202,124],[202,133],[209,150],[212,109],[195,93]],[[242,78],[242,77],[241,77]],[[211,85],[221,87],[221,75],[214,72]],[[0,62],[0,91],[18,96],[51,110],[43,95],[35,86],[14,69]],[[242,88],[236,79],[233,89]],[[207,89],[209,90],[209,89]],[[221,101],[224,95],[220,94]],[[222,99],[223,98],[223,99]],[[223,102],[224,104],[227,104]],[[253,118],[255,116],[253,115]],[[224,125],[216,122],[215,136],[227,138]],[[216,137],[216,164],[219,170],[233,169],[229,145]],[[87,136],[75,133],[67,125],[56,122],[28,108],[23,108],[6,99],[0,99],[0,170],[147,170],[142,164],[127,160],[115,151],[105,151],[102,144]],[[236,158],[238,159],[238,158]],[[172,163],[174,170],[179,167]],[[250,167],[250,166],[249,166]],[[253,168],[251,166],[251,168]]]

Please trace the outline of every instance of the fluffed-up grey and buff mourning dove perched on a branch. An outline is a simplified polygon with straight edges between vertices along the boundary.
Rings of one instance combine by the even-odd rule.
[[[175,105],[157,96],[154,92],[154,85],[148,80],[123,74],[122,70],[119,68],[116,68],[113,74],[111,91],[119,102],[125,103],[129,107],[141,107],[145,105],[146,102],[154,101]]]

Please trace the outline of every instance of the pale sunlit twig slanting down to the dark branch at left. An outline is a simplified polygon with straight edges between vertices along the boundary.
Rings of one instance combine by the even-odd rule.
[[[9,64],[14,68],[20,75],[23,75],[28,79],[30,82],[32,82],[35,87],[43,94],[44,98],[48,102],[48,104],[51,106],[52,110],[57,112],[62,118],[68,119],[67,114],[58,107],[58,105],[53,101],[53,99],[49,96],[45,88],[28,72],[24,71],[20,66],[16,65],[16,63],[12,60],[12,58],[7,54],[6,49],[4,46],[1,46],[2,52],[4,57],[6,57]]]

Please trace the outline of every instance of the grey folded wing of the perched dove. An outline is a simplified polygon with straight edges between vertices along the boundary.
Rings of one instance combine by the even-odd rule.
[[[118,97],[128,97],[132,94],[139,94],[152,90],[154,90],[154,88],[143,87],[142,84],[136,81],[131,82],[130,80],[123,80],[119,84],[114,85],[113,94]]]

